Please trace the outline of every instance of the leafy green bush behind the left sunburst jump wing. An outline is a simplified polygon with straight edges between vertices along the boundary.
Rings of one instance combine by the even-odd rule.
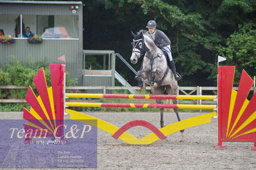
[[[33,84],[33,77],[42,67],[49,87],[51,86],[51,75],[48,63],[21,63],[17,59],[0,68],[0,86],[31,86],[35,94],[38,95],[35,84]],[[69,73],[66,73],[66,86],[74,86],[76,83],[77,79],[71,79]],[[23,99],[26,97],[26,93],[27,89],[0,89],[0,98]],[[24,104],[1,104],[0,111],[22,111],[23,106]]]

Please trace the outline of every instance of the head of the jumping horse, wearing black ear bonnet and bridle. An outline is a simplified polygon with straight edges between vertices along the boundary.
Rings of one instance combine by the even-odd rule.
[[[132,42],[132,56],[130,58],[131,62],[133,64],[136,64],[138,62],[138,59],[145,54],[148,51],[148,47],[146,47],[146,44],[144,43],[144,36],[142,35],[142,32],[138,35],[135,35],[132,32],[133,36],[133,42]]]

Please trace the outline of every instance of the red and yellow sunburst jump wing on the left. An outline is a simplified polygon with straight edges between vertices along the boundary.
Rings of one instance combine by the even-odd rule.
[[[31,88],[28,88],[26,101],[31,109],[23,109],[23,118],[28,120],[24,125],[26,141],[31,137],[58,137],[63,136],[64,130],[64,89],[65,66],[50,65],[51,87],[48,88],[44,68],[41,68],[33,78],[39,96],[37,97]],[[58,128],[59,127],[59,128]],[[40,133],[38,130],[41,130]],[[63,137],[62,137],[63,139]]]

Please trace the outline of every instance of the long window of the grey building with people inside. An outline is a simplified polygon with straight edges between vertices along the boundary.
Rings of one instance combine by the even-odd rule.
[[[27,38],[35,34],[42,35],[44,39],[78,38],[78,16],[0,15],[0,30],[4,31],[4,35],[14,35],[16,38]]]

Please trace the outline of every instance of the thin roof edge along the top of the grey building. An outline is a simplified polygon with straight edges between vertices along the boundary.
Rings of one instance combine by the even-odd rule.
[[[0,1],[14,4],[82,4],[81,1]]]

